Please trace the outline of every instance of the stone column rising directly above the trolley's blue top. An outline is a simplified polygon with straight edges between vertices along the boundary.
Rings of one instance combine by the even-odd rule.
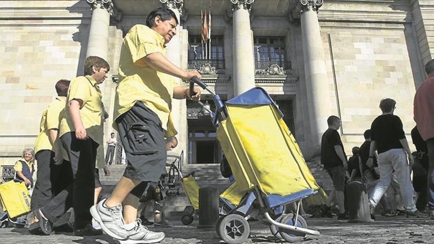
[[[254,61],[250,11],[254,0],[230,0],[234,49],[234,96],[254,85]]]

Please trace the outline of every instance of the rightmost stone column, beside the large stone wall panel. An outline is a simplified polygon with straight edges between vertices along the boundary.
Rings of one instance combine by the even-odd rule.
[[[321,151],[322,134],[327,129],[327,118],[331,115],[323,41],[317,16],[323,0],[300,0],[299,4],[304,74],[311,127],[311,146],[308,154],[317,156]]]

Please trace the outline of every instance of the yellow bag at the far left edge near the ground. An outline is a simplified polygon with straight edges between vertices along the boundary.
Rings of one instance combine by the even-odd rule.
[[[24,182],[10,180],[0,184],[0,201],[10,218],[30,212],[30,195]]]

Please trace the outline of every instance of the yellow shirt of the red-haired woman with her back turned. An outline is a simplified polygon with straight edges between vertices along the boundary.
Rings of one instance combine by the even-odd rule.
[[[63,113],[65,111],[65,105],[65,97],[56,97],[56,99],[42,112],[39,135],[37,135],[34,144],[35,153],[40,150],[54,151],[50,139],[48,139],[48,130],[59,129],[60,120],[63,118]]]

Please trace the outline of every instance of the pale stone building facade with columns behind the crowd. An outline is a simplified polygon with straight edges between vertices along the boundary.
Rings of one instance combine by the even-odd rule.
[[[382,98],[397,101],[406,133],[415,125],[413,96],[434,58],[434,0],[2,0],[0,164],[32,147],[55,82],[81,75],[86,56],[111,66],[102,91],[112,115],[122,37],[160,6],[181,20],[168,58],[201,70],[224,100],[265,88],[309,160],[319,154],[331,114],[342,120],[349,155]],[[212,16],[208,58],[201,10]],[[202,100],[213,106],[209,94]],[[180,141],[174,154],[183,151],[184,163],[219,162],[215,130],[200,107],[177,101],[173,117]]]

